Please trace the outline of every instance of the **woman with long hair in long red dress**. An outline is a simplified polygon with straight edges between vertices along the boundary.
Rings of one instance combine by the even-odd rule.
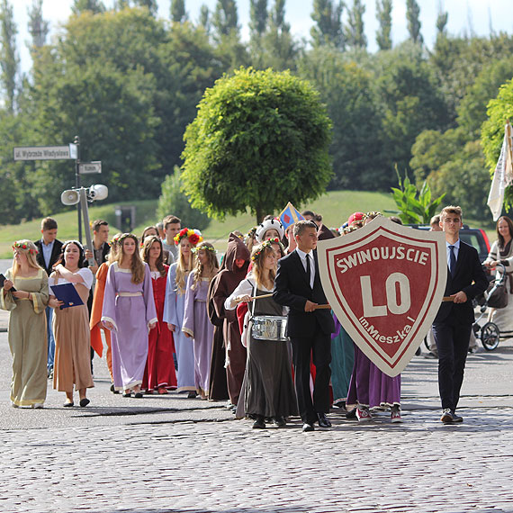
[[[142,379],[142,389],[148,393],[156,390],[162,394],[167,393],[168,389],[176,388],[173,334],[162,320],[169,269],[163,262],[163,256],[160,238],[150,236],[144,239],[140,257],[148,264],[151,273],[158,322],[157,329],[151,329],[148,335],[148,361]]]

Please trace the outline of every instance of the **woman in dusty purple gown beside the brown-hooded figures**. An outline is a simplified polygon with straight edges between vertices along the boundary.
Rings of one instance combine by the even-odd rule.
[[[185,337],[194,339],[194,379],[202,399],[208,398],[213,326],[207,315],[207,293],[219,270],[216,251],[209,242],[195,247],[196,263],[187,278],[184,304]]]

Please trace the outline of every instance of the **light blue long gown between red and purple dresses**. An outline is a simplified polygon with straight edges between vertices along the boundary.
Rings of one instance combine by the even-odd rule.
[[[185,289],[179,290],[176,284],[176,266],[173,264],[167,272],[166,300],[162,319],[167,324],[175,326],[173,338],[176,353],[176,381],[177,392],[194,392],[194,347],[189,338],[185,337],[182,327],[184,325]],[[185,284],[187,276],[185,276]]]

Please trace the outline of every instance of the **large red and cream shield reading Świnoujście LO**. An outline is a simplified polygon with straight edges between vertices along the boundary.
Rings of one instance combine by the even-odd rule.
[[[343,237],[320,240],[318,257],[340,324],[383,373],[401,374],[444,298],[444,233],[378,217]]]

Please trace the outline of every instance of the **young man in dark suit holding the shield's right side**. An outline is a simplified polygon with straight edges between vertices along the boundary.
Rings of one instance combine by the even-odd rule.
[[[440,213],[440,228],[446,234],[447,284],[443,302],[433,322],[433,336],[438,351],[438,388],[442,400],[441,421],[445,424],[463,422],[456,414],[464,367],[474,321],[472,300],[488,287],[488,280],[474,247],[460,240],[463,213],[460,207],[449,206]]]

